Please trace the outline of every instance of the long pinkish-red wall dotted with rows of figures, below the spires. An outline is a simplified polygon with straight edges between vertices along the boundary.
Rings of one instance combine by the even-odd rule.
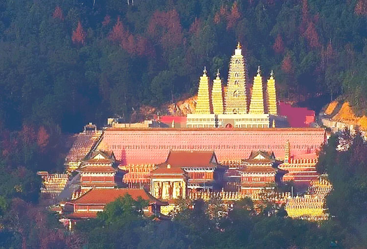
[[[272,150],[283,158],[313,153],[324,142],[323,129],[107,129],[102,143],[121,164],[162,163],[170,150],[214,150],[219,161],[248,158],[252,150]]]

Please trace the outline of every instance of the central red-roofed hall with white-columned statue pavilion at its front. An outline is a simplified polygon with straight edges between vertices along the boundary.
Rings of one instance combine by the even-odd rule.
[[[188,189],[221,189],[224,172],[213,151],[172,150],[151,172],[150,190],[157,198],[185,198]]]

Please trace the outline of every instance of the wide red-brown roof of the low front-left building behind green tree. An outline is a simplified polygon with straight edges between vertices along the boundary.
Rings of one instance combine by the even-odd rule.
[[[149,204],[157,204],[165,206],[166,202],[162,202],[146,193],[144,189],[91,189],[86,194],[72,201],[73,204],[107,204],[115,201],[119,197],[123,197],[126,194],[137,200],[139,196],[143,200],[148,200]]]

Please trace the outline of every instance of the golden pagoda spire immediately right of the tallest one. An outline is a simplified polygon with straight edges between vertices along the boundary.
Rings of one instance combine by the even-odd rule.
[[[252,94],[250,102],[250,114],[264,114],[264,94],[262,89],[262,77],[260,74],[260,66],[257,70],[257,75],[254,77],[252,85]]]

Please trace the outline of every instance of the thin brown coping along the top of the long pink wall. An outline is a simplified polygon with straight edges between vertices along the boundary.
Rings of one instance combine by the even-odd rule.
[[[323,128],[113,128],[106,131],[325,131]]]

